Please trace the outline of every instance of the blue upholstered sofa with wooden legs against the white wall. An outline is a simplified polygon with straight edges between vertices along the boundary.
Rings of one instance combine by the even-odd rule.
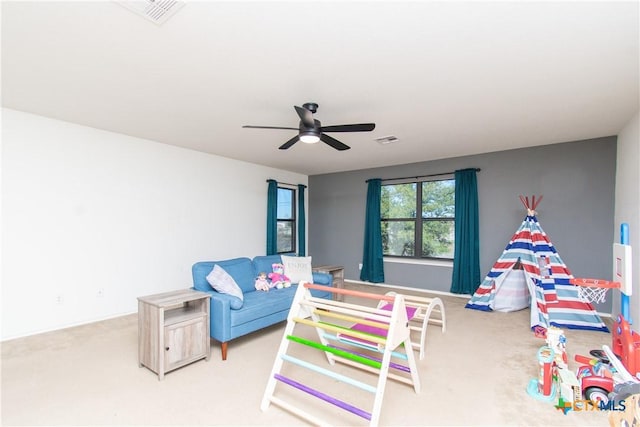
[[[197,262],[191,268],[193,287],[211,295],[210,328],[211,338],[221,343],[222,360],[227,360],[227,344],[234,338],[255,332],[287,319],[297,284],[289,288],[273,288],[269,292],[256,291],[255,280],[259,272],[271,272],[272,264],[281,263],[280,255],[233,258],[224,261]],[[234,309],[234,297],[214,290],[207,275],[218,264],[236,281],[244,296],[242,307]],[[319,285],[332,283],[332,277],[325,273],[313,273],[313,282]],[[316,297],[331,299],[330,292],[312,291]]]

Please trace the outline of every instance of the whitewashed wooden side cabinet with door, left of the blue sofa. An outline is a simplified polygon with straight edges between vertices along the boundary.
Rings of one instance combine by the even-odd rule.
[[[164,374],[209,360],[209,295],[193,289],[138,298],[138,365]]]

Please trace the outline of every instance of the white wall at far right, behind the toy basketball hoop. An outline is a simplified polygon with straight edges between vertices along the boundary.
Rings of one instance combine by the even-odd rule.
[[[620,224],[629,224],[629,243],[633,251],[633,293],[630,314],[633,329],[640,325],[640,113],[618,135],[616,167],[615,242],[620,242]],[[613,268],[612,268],[613,270]],[[613,271],[612,271],[613,272]],[[613,293],[613,315],[620,313],[620,294]]]

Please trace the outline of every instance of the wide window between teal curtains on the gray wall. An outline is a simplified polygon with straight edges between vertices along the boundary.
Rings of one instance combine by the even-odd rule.
[[[453,259],[454,179],[387,184],[382,186],[381,196],[385,256]]]

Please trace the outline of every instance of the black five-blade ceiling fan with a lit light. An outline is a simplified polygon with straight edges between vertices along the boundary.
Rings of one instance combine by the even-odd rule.
[[[305,142],[307,144],[314,144],[318,141],[322,141],[327,145],[335,148],[336,150],[348,150],[349,147],[346,144],[338,141],[337,139],[326,135],[325,132],[371,132],[375,129],[375,123],[358,123],[351,125],[334,125],[334,126],[322,126],[320,120],[313,118],[313,114],[318,110],[318,104],[313,102],[307,102],[302,104],[302,107],[294,105],[298,116],[300,116],[300,125],[297,128],[282,127],[282,126],[251,126],[245,125],[243,128],[249,129],[290,129],[297,130],[298,135],[294,136],[279,148],[286,150],[298,141]]]

